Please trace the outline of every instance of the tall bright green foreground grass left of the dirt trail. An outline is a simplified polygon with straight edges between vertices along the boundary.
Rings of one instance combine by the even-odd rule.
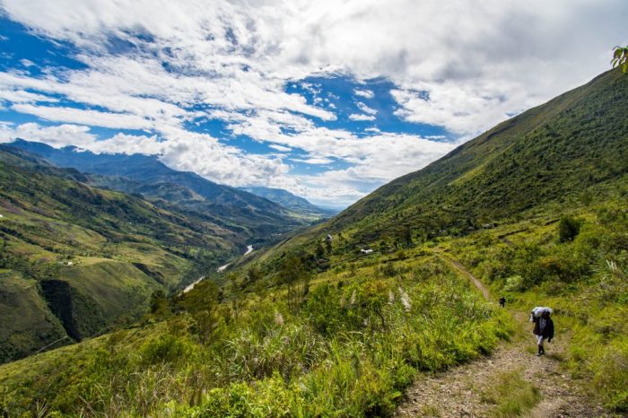
[[[212,312],[188,305],[70,355],[0,366],[0,405],[8,414],[45,401],[61,414],[386,415],[417,372],[489,353],[508,333],[504,312],[438,259],[408,258],[403,276],[376,267],[344,285],[325,274],[296,310],[278,290],[251,295],[237,316],[228,301]],[[198,306],[216,303],[203,301],[207,286],[190,292]],[[20,372],[37,363],[36,375]]]

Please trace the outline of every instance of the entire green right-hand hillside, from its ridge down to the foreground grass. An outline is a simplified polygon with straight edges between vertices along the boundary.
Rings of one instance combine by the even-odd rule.
[[[243,257],[222,287],[205,280],[153,300],[148,321],[0,366],[0,411],[390,416],[413,381],[422,394],[434,373],[501,349],[522,370],[472,383],[486,415],[546,416],[536,405],[561,398],[589,411],[578,416],[621,416],[627,95],[628,76],[602,74]],[[546,357],[534,355],[534,306],[554,308]],[[533,361],[558,371],[539,385]],[[449,413],[424,406],[416,414]]]

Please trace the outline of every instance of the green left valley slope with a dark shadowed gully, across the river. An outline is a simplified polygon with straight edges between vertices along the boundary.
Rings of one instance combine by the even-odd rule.
[[[200,215],[88,180],[0,147],[0,361],[136,318],[153,291],[240,251],[232,231]]]

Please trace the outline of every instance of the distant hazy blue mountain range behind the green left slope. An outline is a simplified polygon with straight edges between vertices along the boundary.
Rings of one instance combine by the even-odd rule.
[[[292,213],[264,197],[216,184],[195,173],[172,170],[156,156],[96,154],[73,146],[56,149],[22,140],[10,145],[37,154],[58,167],[98,174],[91,176],[96,186],[139,193],[204,213],[213,222],[239,231],[249,240],[270,239],[275,233],[291,231],[307,223],[301,219],[301,213]]]

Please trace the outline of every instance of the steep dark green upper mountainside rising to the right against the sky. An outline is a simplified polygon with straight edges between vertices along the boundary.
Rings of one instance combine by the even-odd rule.
[[[355,225],[365,239],[405,224],[425,234],[465,231],[624,176],[626,95],[627,77],[601,74],[380,187],[327,227]]]

